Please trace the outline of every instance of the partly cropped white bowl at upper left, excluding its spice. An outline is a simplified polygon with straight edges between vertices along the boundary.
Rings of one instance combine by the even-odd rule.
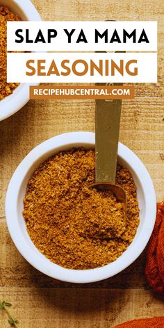
[[[0,0],[0,5],[7,6],[13,13],[22,20],[40,21],[41,17],[30,0]],[[29,100],[30,85],[39,83],[20,83],[13,94],[0,100],[0,121],[13,115],[21,109]]]

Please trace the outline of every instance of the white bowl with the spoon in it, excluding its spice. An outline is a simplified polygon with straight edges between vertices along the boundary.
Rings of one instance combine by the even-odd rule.
[[[95,148],[95,133],[72,132],[56,136],[35,147],[19,164],[10,180],[6,195],[6,220],[10,236],[24,258],[36,269],[49,277],[74,283],[88,283],[114,276],[124,270],[142,253],[147,245],[156,220],[156,195],[147,169],[140,159],[126,146],[119,143],[118,163],[127,167],[137,186],[140,206],[140,225],[131,245],[116,261],[102,268],[90,270],[70,270],[49,261],[33,245],[26,231],[26,223],[22,215],[23,199],[26,186],[35,168],[49,156],[58,151],[72,147]]]

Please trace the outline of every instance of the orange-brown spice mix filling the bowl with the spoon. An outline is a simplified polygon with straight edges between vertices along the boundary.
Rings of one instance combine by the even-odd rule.
[[[116,183],[126,191],[127,215],[108,190],[95,182],[95,150],[60,151],[28,181],[23,215],[34,245],[50,261],[69,269],[99,268],[131,244],[139,224],[136,186],[117,165]]]

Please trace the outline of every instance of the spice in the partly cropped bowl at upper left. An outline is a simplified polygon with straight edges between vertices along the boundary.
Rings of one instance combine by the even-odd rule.
[[[20,21],[7,7],[0,5],[0,100],[11,95],[19,83],[7,83],[7,22]]]

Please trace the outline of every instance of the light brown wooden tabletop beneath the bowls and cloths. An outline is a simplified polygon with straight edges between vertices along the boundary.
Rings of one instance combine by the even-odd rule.
[[[33,0],[45,20],[157,20],[158,83],[136,85],[136,98],[123,101],[120,141],[145,163],[158,201],[164,186],[163,1]],[[151,65],[150,65],[151,69]],[[145,280],[145,252],[116,277],[95,284],[67,284],[41,274],[17,252],[6,227],[4,203],[10,177],[40,142],[67,131],[94,131],[94,101],[29,101],[0,122],[0,299],[13,302],[23,328],[112,328],[133,318],[163,315],[162,300]],[[1,328],[9,327],[0,312]]]

